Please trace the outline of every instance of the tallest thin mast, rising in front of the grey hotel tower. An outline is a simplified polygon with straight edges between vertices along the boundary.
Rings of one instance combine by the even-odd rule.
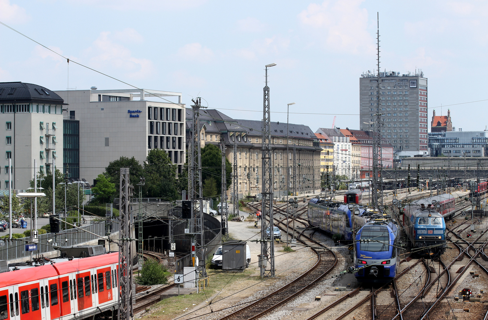
[[[381,122],[380,112],[380,19],[378,14],[378,31],[377,31],[377,68],[378,86],[376,87],[376,119],[373,123],[373,186],[372,186],[372,205],[378,207],[383,205],[383,157],[381,153]]]

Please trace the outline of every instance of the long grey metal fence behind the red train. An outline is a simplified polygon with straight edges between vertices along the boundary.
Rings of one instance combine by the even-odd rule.
[[[77,228],[63,230],[58,234],[43,234],[39,235],[39,242],[38,250],[34,251],[34,254],[41,254],[48,251],[53,251],[54,243],[57,243],[58,247],[71,247],[81,244],[83,242],[99,239],[100,237],[96,236],[105,236],[105,222],[95,223],[88,225],[86,227],[82,227],[83,231]],[[94,233],[92,235],[88,232]],[[119,231],[119,224],[112,222],[112,233]],[[47,241],[49,239],[53,239],[51,243]],[[32,244],[30,242],[30,237],[19,238],[19,239],[12,239],[12,241],[0,241],[0,260],[11,260],[17,259],[22,257],[30,256],[30,252],[25,251],[25,245]]]

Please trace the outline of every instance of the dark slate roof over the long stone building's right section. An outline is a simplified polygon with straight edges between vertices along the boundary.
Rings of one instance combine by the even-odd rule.
[[[263,122],[258,120],[236,120],[239,125],[247,130],[250,135],[262,135]],[[286,122],[271,122],[271,136],[282,137],[286,136]],[[290,138],[316,140],[317,137],[308,126],[288,124],[288,136]]]

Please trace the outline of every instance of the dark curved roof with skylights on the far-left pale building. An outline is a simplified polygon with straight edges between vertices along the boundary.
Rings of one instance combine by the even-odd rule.
[[[20,102],[66,105],[58,94],[41,85],[0,82],[0,103]]]

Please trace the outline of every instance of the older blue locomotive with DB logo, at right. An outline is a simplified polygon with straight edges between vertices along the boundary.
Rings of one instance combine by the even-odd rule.
[[[442,210],[438,198],[419,200],[404,209],[402,224],[408,243],[422,256],[436,256],[446,250],[446,222],[443,212],[437,212]]]

